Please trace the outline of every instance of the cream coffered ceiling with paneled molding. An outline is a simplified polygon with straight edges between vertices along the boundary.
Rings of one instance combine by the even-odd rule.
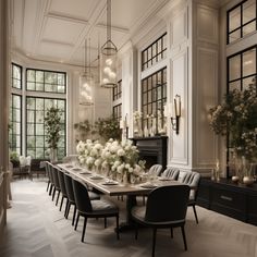
[[[168,0],[112,0],[112,40],[120,49]],[[37,60],[83,65],[106,41],[106,0],[12,0],[12,47]]]

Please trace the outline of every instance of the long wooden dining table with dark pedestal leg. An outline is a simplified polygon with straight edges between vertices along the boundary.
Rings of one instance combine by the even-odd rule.
[[[131,218],[131,209],[136,205],[136,196],[147,195],[154,188],[164,185],[179,185],[178,181],[169,180],[168,178],[156,178],[151,182],[144,182],[139,184],[126,184],[118,181],[110,180],[109,178],[94,173],[85,168],[73,167],[71,163],[57,164],[62,171],[72,174],[73,176],[82,180],[88,186],[96,188],[97,191],[109,196],[126,196],[126,221],[120,225],[120,231],[124,231],[133,228],[133,221]]]

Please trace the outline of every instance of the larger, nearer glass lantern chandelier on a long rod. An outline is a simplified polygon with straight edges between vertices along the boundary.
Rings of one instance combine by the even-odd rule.
[[[100,86],[117,86],[117,47],[111,40],[111,0],[107,0],[107,41],[100,53]]]

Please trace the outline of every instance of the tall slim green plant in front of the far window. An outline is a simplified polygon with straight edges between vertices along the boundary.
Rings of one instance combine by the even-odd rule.
[[[58,142],[60,140],[60,122],[61,117],[59,114],[59,109],[54,107],[47,109],[47,114],[45,117],[45,126],[47,132],[48,147],[51,149],[57,149]]]

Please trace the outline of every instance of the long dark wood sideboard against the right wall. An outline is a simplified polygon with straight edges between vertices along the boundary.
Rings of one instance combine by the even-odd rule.
[[[257,183],[250,186],[233,183],[229,179],[219,182],[200,180],[197,204],[219,213],[257,225]]]

